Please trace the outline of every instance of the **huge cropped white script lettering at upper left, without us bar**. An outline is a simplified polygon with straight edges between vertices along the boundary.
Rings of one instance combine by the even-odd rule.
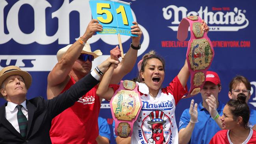
[[[19,0],[12,3],[8,3],[7,0],[0,0],[0,44],[4,44],[13,39],[19,44],[31,44],[37,42],[38,44],[52,44],[58,41],[58,44],[70,44],[70,20],[77,24],[79,28],[79,36],[83,35],[86,30],[87,24],[91,21],[91,11],[89,6],[89,0],[64,0],[59,8],[56,5],[52,5],[47,0]],[[24,11],[24,5],[32,9],[31,13],[22,13]],[[49,10],[50,9],[50,10]],[[49,11],[54,12],[49,13]],[[28,10],[26,10],[28,11]],[[79,19],[70,18],[70,13],[79,13]],[[20,15],[26,15],[26,17],[32,17],[33,21],[22,21]],[[136,20],[135,13],[132,11],[134,21]],[[58,20],[57,28],[52,26],[52,22]],[[33,24],[33,31],[30,33],[24,32],[20,25]],[[5,26],[6,30],[5,31]],[[138,52],[138,56],[143,54],[149,45],[149,35],[147,30],[139,24],[141,31],[143,31],[143,41],[141,42],[141,50]],[[48,35],[46,30],[56,31],[52,35]],[[75,28],[72,28],[75,29]],[[102,32],[116,30],[104,29]],[[119,31],[121,33],[129,33],[128,31]],[[77,39],[79,38],[77,37]],[[88,42],[90,44],[97,42],[99,39],[107,44],[117,45],[118,41],[116,35],[93,35]],[[129,36],[121,36],[122,43],[130,40]],[[108,55],[109,56],[109,55]]]

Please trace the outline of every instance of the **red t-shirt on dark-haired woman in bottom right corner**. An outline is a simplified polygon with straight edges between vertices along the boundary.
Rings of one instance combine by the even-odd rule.
[[[229,130],[218,131],[209,144],[233,144],[229,138]],[[247,139],[242,144],[256,144],[256,131],[250,129]]]

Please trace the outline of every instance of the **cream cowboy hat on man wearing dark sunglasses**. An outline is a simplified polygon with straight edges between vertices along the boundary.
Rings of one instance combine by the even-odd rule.
[[[69,44],[67,46],[65,46],[64,48],[61,48],[58,52],[57,52],[57,59],[58,61],[61,60],[61,57],[63,56],[63,54],[65,54],[65,52],[67,52],[67,50],[69,49],[69,47],[71,46],[72,44]],[[91,46],[90,44],[86,43],[84,46],[83,46],[83,50],[81,52],[81,54],[89,54],[89,55],[93,55],[94,58],[102,55],[102,52],[100,50],[95,50],[94,52],[91,52]]]

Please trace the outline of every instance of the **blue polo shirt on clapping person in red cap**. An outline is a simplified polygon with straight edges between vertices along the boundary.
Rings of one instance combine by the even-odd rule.
[[[218,113],[222,116],[224,104],[219,101]],[[192,132],[189,144],[209,144],[211,138],[221,130],[218,124],[211,118],[210,113],[203,107],[202,102],[198,104],[198,122]],[[185,109],[180,117],[179,131],[185,128],[190,120],[189,109]]]

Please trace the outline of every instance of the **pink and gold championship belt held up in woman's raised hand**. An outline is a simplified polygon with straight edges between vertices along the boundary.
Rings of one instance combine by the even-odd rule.
[[[190,28],[190,40],[187,47],[187,65],[191,75],[190,90],[186,98],[198,94],[204,86],[206,71],[211,65],[214,50],[207,33],[202,29],[202,19],[198,16],[182,18],[177,33],[179,41],[187,38],[188,27]]]

